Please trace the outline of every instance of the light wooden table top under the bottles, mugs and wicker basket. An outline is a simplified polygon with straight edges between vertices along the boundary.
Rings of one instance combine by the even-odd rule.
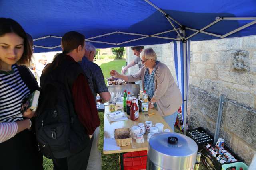
[[[120,109],[120,107],[118,107]],[[130,119],[130,116],[126,114],[128,120],[124,121],[115,121],[115,122],[109,122],[107,113],[109,113],[109,106],[105,106],[105,115],[104,115],[104,144],[103,144],[103,153],[104,154],[113,154],[113,153],[124,153],[124,152],[135,152],[135,151],[142,151],[142,150],[148,150],[148,141],[147,141],[147,135],[146,132],[144,137],[144,143],[136,143],[135,139],[132,139],[131,144],[124,147],[119,147],[116,145],[116,140],[114,138],[114,130],[117,128],[122,127],[129,127],[138,125],[138,123],[144,123],[145,121],[152,121],[153,124],[156,123],[163,123],[164,129],[170,129],[172,132],[172,129],[169,127],[169,125],[164,121],[162,116],[158,114],[158,111],[156,109],[149,109],[148,114],[155,113],[154,115],[145,116],[147,113],[139,113],[139,118],[135,121],[132,121]]]

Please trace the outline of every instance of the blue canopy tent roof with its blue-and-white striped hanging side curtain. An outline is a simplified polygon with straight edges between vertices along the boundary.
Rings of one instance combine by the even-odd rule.
[[[36,53],[60,51],[68,31],[84,34],[97,48],[179,41],[174,60],[184,125],[186,42],[256,35],[255,0],[1,0],[0,17],[18,21],[32,35]]]

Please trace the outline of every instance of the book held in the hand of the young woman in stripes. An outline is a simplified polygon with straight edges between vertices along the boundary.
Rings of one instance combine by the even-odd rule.
[[[27,109],[30,109],[31,111],[36,111],[39,95],[40,91],[35,90],[27,98],[24,98],[22,100],[21,113],[24,113]]]

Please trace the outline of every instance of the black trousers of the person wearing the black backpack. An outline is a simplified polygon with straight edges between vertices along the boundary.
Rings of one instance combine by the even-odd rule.
[[[86,170],[93,138],[90,139],[84,150],[67,158],[52,159],[54,170]]]

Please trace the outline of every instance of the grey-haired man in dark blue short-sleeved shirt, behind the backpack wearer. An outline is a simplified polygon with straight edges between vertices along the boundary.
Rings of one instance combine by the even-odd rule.
[[[92,94],[94,95],[94,100],[96,101],[96,95],[100,95],[100,100],[98,102],[105,103],[110,100],[110,93],[104,81],[104,76],[100,66],[93,63],[95,58],[96,48],[89,42],[85,44],[85,54],[80,66],[83,68],[86,77],[88,78],[88,83]],[[101,170],[101,154],[98,150],[98,141],[100,138],[100,127],[97,127],[93,133],[94,139],[92,142],[92,149],[90,152],[90,158],[87,166],[87,170]]]

